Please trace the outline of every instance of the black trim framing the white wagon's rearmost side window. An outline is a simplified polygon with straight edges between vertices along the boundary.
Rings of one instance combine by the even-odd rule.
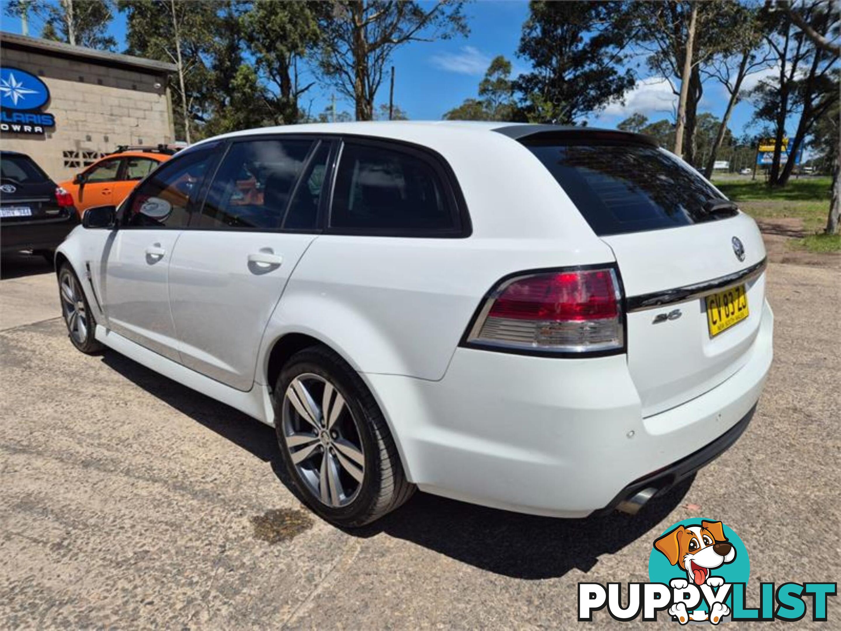
[[[413,142],[402,141],[394,138],[381,138],[368,135],[354,135],[342,134],[340,136],[340,147],[337,152],[336,159],[333,162],[331,173],[331,186],[329,195],[330,212],[327,214],[324,222],[325,235],[346,235],[346,236],[393,236],[393,237],[408,237],[415,239],[464,239],[473,234],[473,224],[470,221],[470,215],[467,209],[467,203],[464,201],[464,195],[461,187],[458,185],[458,178],[455,172],[452,171],[449,162],[444,157],[430,149],[429,147],[417,145]],[[338,168],[341,164],[341,154],[347,143],[372,146],[389,151],[398,151],[410,156],[420,158],[422,161],[432,168],[438,175],[442,186],[444,187],[443,194],[447,199],[447,205],[450,207],[452,215],[452,228],[442,230],[410,230],[410,229],[371,229],[371,228],[334,228],[330,225],[330,219],[333,212],[333,201],[336,194],[336,179],[338,177]]]

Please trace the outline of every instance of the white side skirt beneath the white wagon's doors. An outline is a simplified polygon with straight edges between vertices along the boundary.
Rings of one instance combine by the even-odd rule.
[[[135,360],[147,369],[154,370],[164,377],[201,392],[211,399],[221,401],[227,406],[256,418],[257,421],[274,426],[274,411],[267,385],[254,384],[251,390],[247,392],[236,390],[219,381],[205,377],[204,374],[188,369],[180,363],[173,362],[172,359],[154,353],[99,324],[97,325],[96,338],[105,346]]]

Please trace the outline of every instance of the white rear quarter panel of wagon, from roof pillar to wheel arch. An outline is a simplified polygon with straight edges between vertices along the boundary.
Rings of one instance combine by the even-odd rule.
[[[292,332],[325,342],[362,373],[442,379],[500,278],[614,260],[531,152],[505,136],[486,136],[451,133],[426,143],[458,178],[471,235],[316,238],[269,321],[258,381],[274,343]]]

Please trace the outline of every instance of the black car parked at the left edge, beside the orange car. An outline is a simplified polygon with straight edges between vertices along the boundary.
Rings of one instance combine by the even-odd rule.
[[[24,153],[0,151],[0,171],[0,249],[32,250],[52,262],[79,224],[71,196]]]

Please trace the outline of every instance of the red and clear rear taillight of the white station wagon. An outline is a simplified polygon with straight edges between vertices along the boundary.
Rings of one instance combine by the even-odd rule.
[[[500,282],[465,340],[533,353],[621,352],[621,290],[614,268],[523,273]]]

